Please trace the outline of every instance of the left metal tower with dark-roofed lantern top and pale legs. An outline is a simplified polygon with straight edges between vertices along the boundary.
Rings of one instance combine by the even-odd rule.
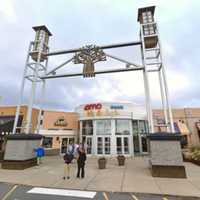
[[[16,109],[13,133],[16,132],[16,128],[17,128],[17,123],[18,123],[19,113],[20,113],[20,106],[23,99],[25,79],[31,81],[32,83],[30,100],[28,104],[28,111],[27,111],[27,117],[26,117],[26,126],[25,126],[25,133],[29,133],[31,130],[32,108],[33,108],[35,92],[36,92],[36,84],[37,82],[42,81],[39,78],[39,73],[46,74],[46,68],[47,68],[46,53],[48,53],[48,50],[49,50],[48,41],[49,41],[49,37],[52,34],[50,33],[50,31],[47,29],[46,26],[35,26],[33,27],[33,29],[35,30],[36,35],[35,35],[35,40],[31,42],[29,45],[29,50],[28,50],[29,52],[27,55],[24,75],[23,75],[22,84],[21,84],[19,104]],[[30,57],[32,58],[31,61],[29,60]],[[42,62],[45,60],[46,60],[46,65],[44,66]],[[43,93],[44,93],[44,89],[43,89]]]

